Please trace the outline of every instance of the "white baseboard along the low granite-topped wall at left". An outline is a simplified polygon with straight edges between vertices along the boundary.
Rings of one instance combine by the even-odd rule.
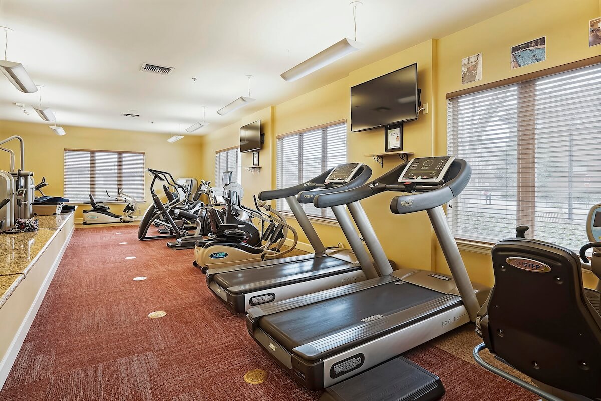
[[[19,326],[19,330],[17,331],[16,335],[13,337],[13,341],[11,341],[10,346],[8,346],[8,350],[7,350],[6,354],[4,354],[4,358],[2,358],[2,361],[0,361],[0,389],[4,386],[4,382],[6,381],[6,379],[8,377],[8,373],[10,373],[10,370],[13,367],[14,360],[16,360],[17,354],[19,354],[19,350],[21,349],[21,346],[23,345],[23,341],[25,341],[25,337],[26,337],[27,333],[29,332],[31,323],[34,321],[34,318],[35,318],[35,315],[37,314],[38,309],[40,309],[41,301],[44,299],[44,296],[46,295],[46,291],[48,290],[48,287],[50,286],[50,282],[52,281],[52,278],[54,277],[54,274],[56,272],[56,269],[58,268],[59,263],[61,262],[61,259],[63,259],[63,254],[65,253],[65,250],[67,249],[67,246],[69,245],[71,236],[73,235],[73,231],[75,231],[75,227],[71,226],[70,232],[67,235],[67,239],[66,239],[65,243],[63,244],[63,246],[61,246],[61,250],[59,251],[58,255],[56,255],[56,258],[54,259],[52,266],[50,267],[48,273],[46,274],[46,278],[44,278],[44,281],[43,281],[40,289],[38,290],[37,294],[35,295],[35,298],[31,304],[31,307],[29,307],[29,310],[27,311],[27,314],[25,315],[25,319],[23,319],[23,322]],[[18,287],[17,287],[17,289],[18,289]]]

